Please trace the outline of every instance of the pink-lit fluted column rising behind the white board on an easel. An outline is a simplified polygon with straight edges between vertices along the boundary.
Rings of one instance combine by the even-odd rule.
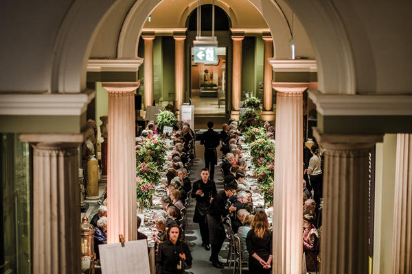
[[[107,242],[137,240],[135,95],[139,83],[102,83],[108,91]]]

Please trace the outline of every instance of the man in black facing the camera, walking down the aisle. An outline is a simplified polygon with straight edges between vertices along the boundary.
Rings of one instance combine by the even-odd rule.
[[[216,184],[209,179],[209,170],[202,169],[201,179],[193,183],[192,198],[196,198],[193,222],[199,224],[202,236],[202,247],[210,250],[209,246],[209,227],[207,226],[206,214],[209,210],[211,198],[216,195]]]

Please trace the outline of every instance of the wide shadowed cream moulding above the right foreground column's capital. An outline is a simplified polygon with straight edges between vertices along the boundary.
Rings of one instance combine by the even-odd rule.
[[[332,95],[309,90],[323,116],[412,116],[412,95]]]

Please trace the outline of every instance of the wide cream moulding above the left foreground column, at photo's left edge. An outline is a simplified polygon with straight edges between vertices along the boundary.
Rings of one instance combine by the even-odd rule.
[[[62,94],[0,94],[0,115],[81,115],[95,90]]]

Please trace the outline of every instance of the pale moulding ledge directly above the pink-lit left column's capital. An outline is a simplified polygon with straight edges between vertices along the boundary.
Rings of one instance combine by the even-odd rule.
[[[87,61],[87,71],[139,71],[139,66],[143,63],[143,58],[135,59],[89,59]]]

